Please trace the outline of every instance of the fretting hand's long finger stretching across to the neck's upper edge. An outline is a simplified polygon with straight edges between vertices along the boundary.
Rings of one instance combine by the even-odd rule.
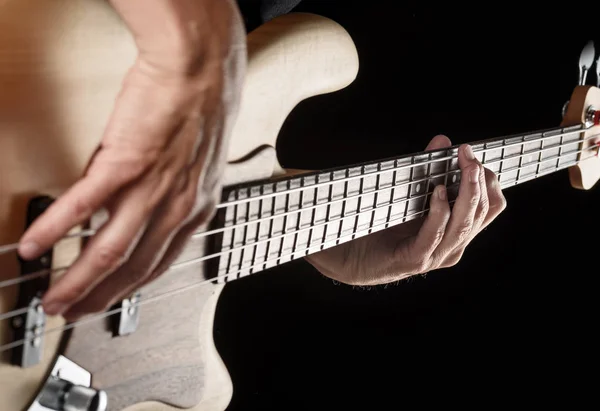
[[[458,150],[458,165],[461,181],[458,196],[452,209],[444,238],[435,251],[436,259],[443,259],[462,244],[473,230],[475,213],[481,197],[480,164],[469,145],[461,145]]]

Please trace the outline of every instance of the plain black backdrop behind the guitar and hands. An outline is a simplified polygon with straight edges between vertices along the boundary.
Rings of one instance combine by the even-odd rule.
[[[420,151],[439,133],[462,143],[558,125],[579,53],[600,38],[589,4],[564,6],[305,0],[298,11],[349,31],[361,68],[291,113],[281,164],[329,168]],[[215,341],[234,384],[228,410],[597,403],[600,190],[575,190],[562,171],[505,195],[449,269],[364,289],[297,261],[227,285]]]

